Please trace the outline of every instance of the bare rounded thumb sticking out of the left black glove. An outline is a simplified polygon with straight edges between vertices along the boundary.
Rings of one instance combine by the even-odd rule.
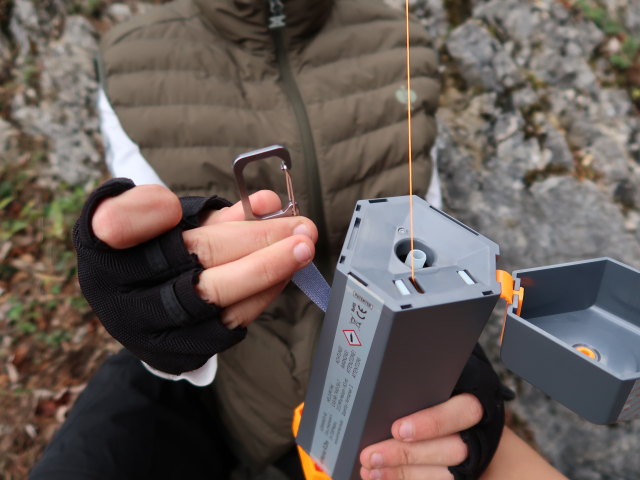
[[[91,228],[111,248],[130,248],[170,230],[181,218],[175,194],[160,185],[140,185],[100,202]]]

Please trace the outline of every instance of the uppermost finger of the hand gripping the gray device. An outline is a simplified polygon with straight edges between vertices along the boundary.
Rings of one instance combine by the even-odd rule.
[[[482,419],[480,401],[469,393],[396,420],[391,433],[397,440],[415,441],[444,437],[471,428]]]

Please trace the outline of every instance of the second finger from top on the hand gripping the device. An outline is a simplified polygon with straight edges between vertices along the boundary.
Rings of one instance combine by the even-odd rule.
[[[389,439],[365,448],[360,454],[360,463],[369,469],[403,465],[453,466],[464,462],[468,453],[467,444],[458,434],[421,442]]]

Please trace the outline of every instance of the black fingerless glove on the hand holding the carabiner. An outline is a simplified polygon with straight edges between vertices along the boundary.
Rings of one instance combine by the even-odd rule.
[[[116,250],[95,237],[91,218],[98,204],[134,187],[109,180],[87,200],[73,229],[82,293],[107,331],[139,359],[171,374],[195,370],[236,344],[245,328],[227,329],[220,308],[204,302],[194,284],[202,271],[182,240],[199,214],[229,206],[217,197],[181,199],[182,221],[138,246]]]

